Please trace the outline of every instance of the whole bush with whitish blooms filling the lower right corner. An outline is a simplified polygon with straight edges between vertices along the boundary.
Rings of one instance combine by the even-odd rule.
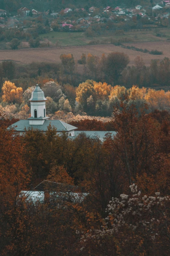
[[[85,255],[86,250],[97,248],[102,256],[170,255],[170,197],[159,192],[142,195],[135,184],[130,189],[132,195],[110,200],[101,229],[81,236],[80,250]]]

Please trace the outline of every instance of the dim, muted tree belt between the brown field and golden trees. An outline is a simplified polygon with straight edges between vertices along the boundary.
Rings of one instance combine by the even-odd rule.
[[[17,64],[3,61],[0,64],[0,88],[5,80],[10,80],[17,87],[26,90],[30,85],[41,83],[43,78],[57,80],[61,85],[70,84],[74,87],[88,79],[106,82],[112,86],[119,84],[126,88],[130,88],[133,84],[140,88],[161,88],[169,84],[170,60],[167,57],[163,60],[151,60],[149,66],[146,66],[139,56],[135,58],[135,65],[128,66],[129,57],[118,52],[107,56],[103,54],[101,58],[90,53],[87,56],[82,54],[80,60],[75,60],[72,54],[62,54],[60,60],[61,63],[58,64],[44,62]]]

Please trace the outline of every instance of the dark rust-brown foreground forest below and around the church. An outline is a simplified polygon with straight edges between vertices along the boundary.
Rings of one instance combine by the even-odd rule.
[[[20,136],[1,114],[1,255],[169,255],[170,115],[121,107],[111,120],[117,135],[103,143],[84,134],[71,140],[50,126]],[[61,200],[52,190],[42,202],[21,195],[44,179],[88,196]]]

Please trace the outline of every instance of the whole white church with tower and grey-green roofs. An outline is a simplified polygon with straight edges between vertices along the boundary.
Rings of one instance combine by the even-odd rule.
[[[28,129],[38,129],[46,132],[48,126],[51,125],[57,130],[57,134],[65,131],[68,133],[69,138],[74,139],[80,133],[84,133],[86,136],[94,138],[98,137],[101,141],[104,140],[107,133],[111,136],[115,136],[115,131],[75,131],[77,127],[69,125],[60,120],[48,120],[49,117],[46,116],[46,98],[44,92],[36,85],[35,90],[32,92],[31,98],[29,99],[31,104],[31,117],[27,120],[20,120],[8,128],[14,128],[20,134],[25,133]]]

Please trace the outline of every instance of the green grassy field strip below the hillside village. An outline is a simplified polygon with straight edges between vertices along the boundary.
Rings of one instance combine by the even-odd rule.
[[[163,40],[170,38],[170,29],[160,29],[163,33]],[[73,46],[73,45],[87,45],[91,41],[96,43],[110,43],[111,39],[114,41],[127,38],[127,42],[152,42],[160,41],[161,37],[156,36],[155,28],[152,29],[134,29],[132,31],[123,32],[122,35],[117,35],[115,32],[106,31],[101,35],[94,37],[86,37],[84,32],[54,32],[40,35],[40,39],[49,40],[52,44],[57,46]]]

